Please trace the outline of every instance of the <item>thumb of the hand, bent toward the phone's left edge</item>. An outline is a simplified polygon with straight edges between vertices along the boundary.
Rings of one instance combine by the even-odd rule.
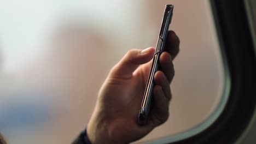
[[[130,77],[140,64],[150,61],[154,55],[154,47],[144,50],[129,50],[125,56],[111,70],[110,75]]]

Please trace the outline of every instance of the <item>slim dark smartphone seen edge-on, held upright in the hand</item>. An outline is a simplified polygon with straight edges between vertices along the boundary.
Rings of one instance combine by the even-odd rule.
[[[169,25],[172,20],[173,5],[167,4],[165,7],[164,17],[162,18],[162,25],[158,37],[158,43],[156,44],[155,54],[153,57],[152,65],[148,75],[148,81],[143,95],[141,109],[138,114],[138,123],[144,125],[147,123],[148,114],[152,104],[153,88],[154,88],[154,75],[159,69],[159,58],[164,51],[165,41],[169,29]]]

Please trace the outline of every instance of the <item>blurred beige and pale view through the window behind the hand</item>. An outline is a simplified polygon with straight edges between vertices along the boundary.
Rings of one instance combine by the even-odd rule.
[[[208,1],[0,2],[0,131],[9,143],[71,143],[113,65],[156,45],[166,4],[181,39],[170,118],[135,143],[194,128],[218,104],[222,60]]]

